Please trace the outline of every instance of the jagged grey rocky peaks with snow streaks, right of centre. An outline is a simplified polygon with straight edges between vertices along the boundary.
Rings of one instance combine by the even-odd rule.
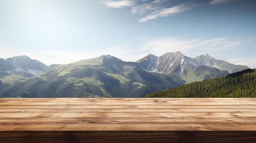
[[[191,58],[183,55],[181,52],[166,53],[160,57],[147,55],[138,60],[138,63],[144,70],[156,73],[186,73],[189,70],[195,70],[199,66],[209,66],[219,70],[227,70],[229,73],[238,72],[247,69],[247,66],[229,64],[220,59],[214,59],[208,54],[202,54]]]

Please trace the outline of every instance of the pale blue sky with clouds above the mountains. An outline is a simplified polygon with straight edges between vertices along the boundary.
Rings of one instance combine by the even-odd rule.
[[[256,67],[255,0],[0,0],[0,58],[135,62],[180,51]]]

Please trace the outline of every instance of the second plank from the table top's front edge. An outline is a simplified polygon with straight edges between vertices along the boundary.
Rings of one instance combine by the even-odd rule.
[[[113,117],[55,117],[55,118],[0,118],[0,123],[256,123],[256,118],[113,118]]]

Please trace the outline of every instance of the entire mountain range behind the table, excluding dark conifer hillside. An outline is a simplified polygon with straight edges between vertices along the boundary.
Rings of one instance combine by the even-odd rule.
[[[143,97],[157,90],[248,69],[203,54],[147,55],[124,62],[111,55],[70,64],[45,64],[27,56],[0,59],[0,97]]]

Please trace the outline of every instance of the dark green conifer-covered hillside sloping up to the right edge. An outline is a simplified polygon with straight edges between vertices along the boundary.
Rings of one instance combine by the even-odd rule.
[[[256,69],[242,70],[223,77],[197,81],[146,97],[256,97]]]

